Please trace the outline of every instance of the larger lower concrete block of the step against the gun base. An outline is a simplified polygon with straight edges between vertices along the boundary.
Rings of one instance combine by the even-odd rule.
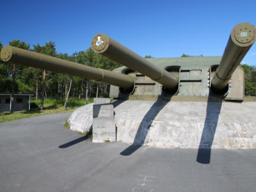
[[[116,141],[116,124],[114,118],[93,118],[93,143]]]

